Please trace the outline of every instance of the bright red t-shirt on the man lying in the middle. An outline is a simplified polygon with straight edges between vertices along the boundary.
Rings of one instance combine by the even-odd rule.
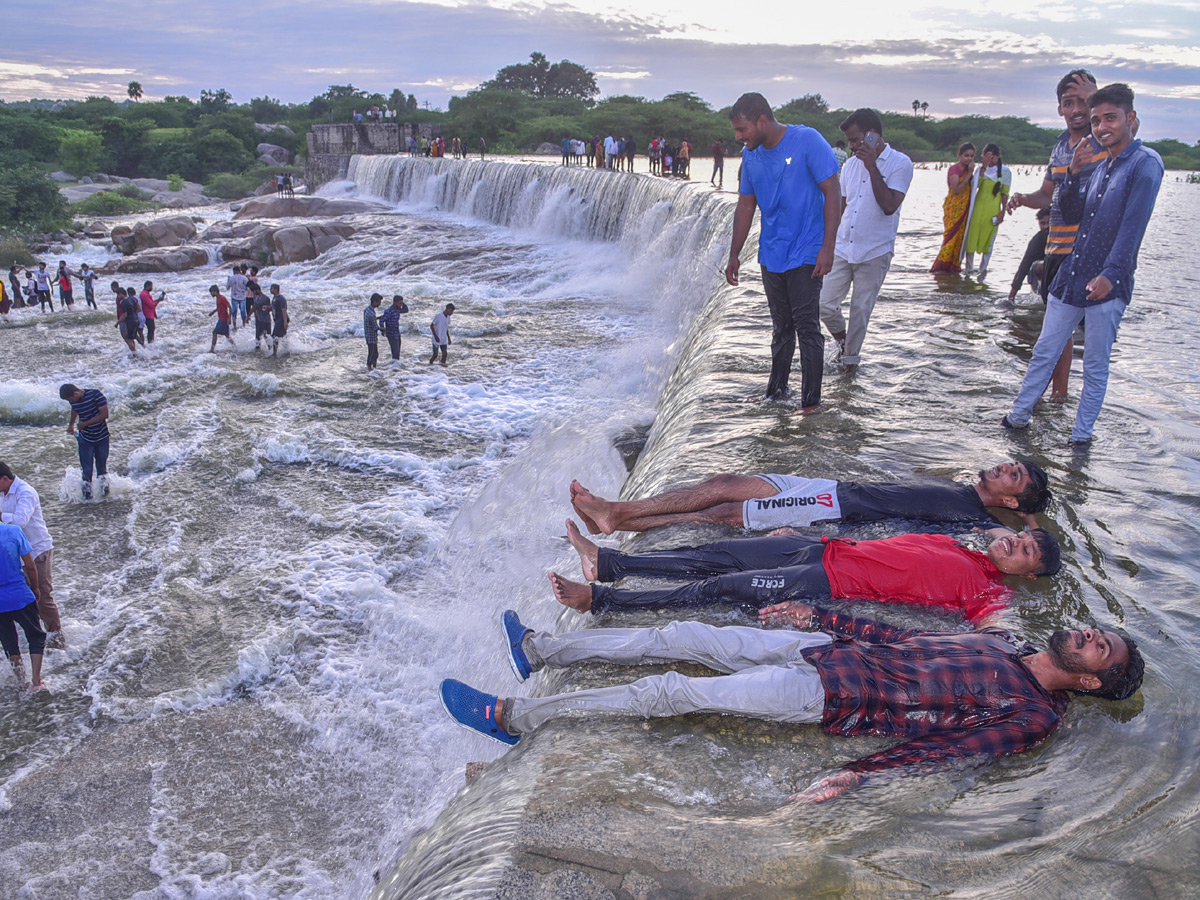
[[[986,553],[946,534],[826,541],[821,558],[835,599],[893,600],[960,610],[972,622],[1008,605],[1004,574]]]

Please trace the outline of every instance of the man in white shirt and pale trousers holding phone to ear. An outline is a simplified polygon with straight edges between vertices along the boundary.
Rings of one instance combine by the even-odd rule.
[[[833,269],[821,287],[821,320],[838,342],[846,374],[858,368],[866,324],[895,250],[900,204],[912,184],[912,160],[883,142],[874,109],[856,109],[841,125],[851,156],[841,170],[841,224]],[[841,301],[850,298],[850,325]]]

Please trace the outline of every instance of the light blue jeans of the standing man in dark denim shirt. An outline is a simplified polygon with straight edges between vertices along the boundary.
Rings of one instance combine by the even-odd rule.
[[[1013,425],[1027,425],[1033,415],[1033,404],[1050,384],[1055,364],[1080,322],[1084,330],[1084,390],[1079,395],[1079,410],[1075,413],[1075,427],[1070,431],[1072,440],[1088,440],[1096,427],[1096,418],[1104,406],[1104,394],[1109,388],[1109,356],[1117,340],[1117,328],[1124,316],[1126,304],[1121,300],[1088,305],[1086,307],[1068,306],[1054,294],[1046,302],[1045,318],[1042,319],[1042,335],[1033,346],[1033,358],[1030,371],[1025,373],[1021,392],[1016,395],[1013,412],[1008,421]]]

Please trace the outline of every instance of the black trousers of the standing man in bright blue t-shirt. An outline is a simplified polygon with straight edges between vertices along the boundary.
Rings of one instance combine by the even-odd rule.
[[[824,335],[821,334],[821,282],[811,264],[786,272],[762,270],[770,310],[770,379],[767,396],[782,398],[792,374],[796,344],[800,346],[800,406],[821,402]]]

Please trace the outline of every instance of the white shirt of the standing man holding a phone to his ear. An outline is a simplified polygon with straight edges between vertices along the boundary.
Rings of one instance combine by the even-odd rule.
[[[893,191],[908,193],[912,160],[886,144],[875,164],[883,176],[883,184]],[[857,265],[890,253],[895,248],[896,229],[900,227],[900,209],[890,216],[883,215],[871,188],[871,173],[857,156],[846,160],[841,168],[841,196],[846,198],[846,211],[838,226],[834,254]]]

